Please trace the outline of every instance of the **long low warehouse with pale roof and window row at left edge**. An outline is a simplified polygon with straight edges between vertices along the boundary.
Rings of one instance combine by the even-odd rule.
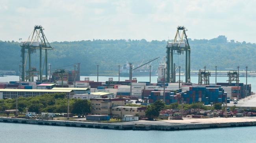
[[[0,89],[0,99],[22,97],[34,97],[43,94],[65,93],[67,96],[74,95],[72,90],[48,90],[48,89]]]

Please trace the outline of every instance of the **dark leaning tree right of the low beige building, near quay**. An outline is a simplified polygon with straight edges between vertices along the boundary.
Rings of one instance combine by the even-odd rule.
[[[161,100],[157,100],[152,105],[148,105],[145,114],[149,120],[153,120],[159,116],[159,112],[163,110],[165,104]]]

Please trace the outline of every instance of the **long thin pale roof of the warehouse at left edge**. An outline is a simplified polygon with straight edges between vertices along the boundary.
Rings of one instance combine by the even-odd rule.
[[[0,92],[71,92],[72,90],[52,90],[52,89],[0,89]]]

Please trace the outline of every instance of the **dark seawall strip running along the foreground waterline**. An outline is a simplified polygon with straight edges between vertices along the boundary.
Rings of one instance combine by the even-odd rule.
[[[66,127],[83,127],[96,129],[115,129],[115,130],[192,130],[207,128],[223,128],[223,127],[247,127],[256,126],[256,121],[239,121],[231,123],[184,123],[180,125],[173,124],[137,124],[137,122],[121,122],[121,123],[98,123],[98,122],[82,122],[82,121],[61,121],[61,120],[39,120],[39,119],[19,119],[1,117],[0,122],[5,123],[23,123],[35,125],[52,125]]]

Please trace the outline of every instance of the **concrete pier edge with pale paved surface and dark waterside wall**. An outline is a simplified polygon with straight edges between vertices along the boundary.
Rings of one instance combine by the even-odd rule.
[[[169,121],[132,121],[119,123],[98,123],[98,122],[82,122],[82,121],[61,121],[61,120],[39,120],[39,119],[19,119],[0,117],[0,122],[5,123],[24,123],[35,125],[52,125],[66,127],[84,127],[96,129],[114,129],[114,130],[191,130],[191,129],[207,129],[207,128],[223,128],[223,127],[246,127],[255,126],[256,118],[221,118],[221,121],[215,123],[209,122],[208,119],[194,119],[199,122],[188,122],[188,120],[169,120]],[[194,121],[191,119],[191,121]],[[204,121],[205,120],[205,121]],[[219,119],[218,119],[219,120]],[[233,120],[233,121],[230,121]]]

